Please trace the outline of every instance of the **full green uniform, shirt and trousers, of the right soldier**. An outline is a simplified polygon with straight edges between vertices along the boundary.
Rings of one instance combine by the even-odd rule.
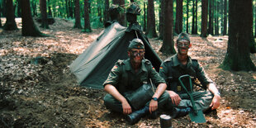
[[[202,88],[206,89],[208,83],[212,83],[211,79],[206,76],[203,68],[198,64],[196,59],[191,59],[188,57],[187,65],[183,65],[178,61],[178,56],[173,55],[169,59],[164,60],[159,69],[159,74],[166,81],[168,88],[167,90],[172,90],[177,92],[178,95],[182,98],[182,101],[179,103],[178,107],[192,107],[192,103],[189,97],[186,96],[186,92],[181,87],[178,82],[178,78],[184,74],[189,74],[193,79],[198,79],[202,85]],[[188,88],[189,83],[187,81],[183,82],[184,85]],[[191,90],[190,90],[191,91]],[[209,91],[203,92],[193,92],[193,97],[195,97],[195,103],[197,109],[205,111],[209,108],[213,95]],[[185,97],[186,96],[186,97]],[[175,107],[171,98],[168,102],[168,108]]]

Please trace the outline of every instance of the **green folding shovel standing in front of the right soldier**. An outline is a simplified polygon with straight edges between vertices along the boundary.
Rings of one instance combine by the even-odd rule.
[[[187,91],[187,88],[185,87],[185,85],[183,84],[183,81],[182,81],[182,78],[188,78],[189,79],[189,85],[190,85],[190,90],[191,92],[188,92]],[[182,75],[178,78],[179,82],[181,83],[182,87],[184,88],[184,90],[187,92],[187,95],[190,97],[190,100],[192,102],[192,111],[190,111],[188,114],[190,116],[190,120],[191,121],[194,121],[196,123],[205,123],[206,122],[206,118],[205,116],[203,115],[202,111],[201,110],[197,110],[197,107],[195,105],[195,101],[194,101],[194,98],[192,97],[192,92],[193,92],[193,89],[192,89],[192,80],[190,78],[190,75],[188,74],[185,74],[185,75]]]

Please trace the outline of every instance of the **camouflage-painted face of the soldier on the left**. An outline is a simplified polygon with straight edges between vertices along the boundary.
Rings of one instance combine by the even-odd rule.
[[[130,61],[132,61],[135,64],[140,64],[141,60],[144,58],[145,50],[131,49],[128,52],[128,55],[130,57]]]

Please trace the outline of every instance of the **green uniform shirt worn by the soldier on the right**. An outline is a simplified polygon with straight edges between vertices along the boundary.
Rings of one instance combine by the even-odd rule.
[[[204,89],[207,88],[208,83],[212,83],[211,79],[206,76],[204,69],[198,64],[197,59],[188,57],[187,65],[183,65],[178,61],[177,54],[164,60],[160,66],[159,74],[167,82],[167,89],[178,93],[184,92],[178,83],[178,78],[184,74],[189,74],[193,79],[197,78]],[[184,84],[188,85],[187,81]]]

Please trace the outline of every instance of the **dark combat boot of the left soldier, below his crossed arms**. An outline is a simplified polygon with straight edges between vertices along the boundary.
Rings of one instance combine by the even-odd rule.
[[[149,107],[143,107],[140,110],[134,111],[131,114],[127,115],[126,120],[130,125],[134,125],[140,121],[141,117],[149,114]]]

